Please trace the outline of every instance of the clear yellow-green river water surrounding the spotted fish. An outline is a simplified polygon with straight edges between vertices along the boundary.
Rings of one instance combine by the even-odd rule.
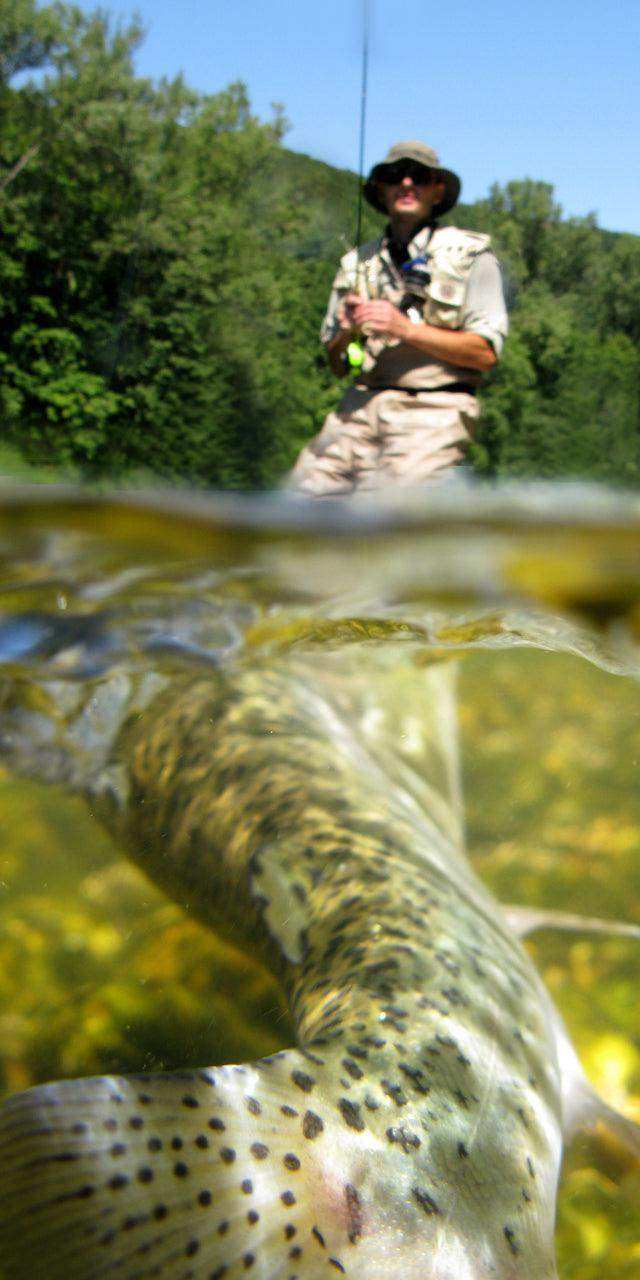
[[[454,662],[485,882],[503,901],[640,922],[639,499],[463,483],[311,506],[6,488],[0,561],[0,1096],[291,1043],[257,961],[164,897],[74,794],[123,681],[348,655],[355,687],[379,698],[392,786],[411,736],[404,718],[394,737],[394,708],[415,698],[417,723],[424,672]],[[591,1080],[640,1120],[640,943],[547,931],[527,946]],[[639,1280],[639,1204],[637,1167],[580,1138],[562,1280]]]

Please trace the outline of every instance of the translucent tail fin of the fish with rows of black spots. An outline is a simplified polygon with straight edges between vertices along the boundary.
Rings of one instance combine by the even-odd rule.
[[[344,1271],[360,1201],[337,1180],[352,1139],[321,1076],[317,1057],[291,1051],[9,1098],[3,1280],[232,1280],[253,1262],[261,1276],[288,1277],[302,1253],[305,1280]]]

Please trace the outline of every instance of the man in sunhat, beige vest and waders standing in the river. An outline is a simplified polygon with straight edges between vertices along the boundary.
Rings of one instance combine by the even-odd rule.
[[[396,142],[371,169],[364,196],[389,221],[342,259],[320,333],[333,372],[356,380],[302,449],[293,489],[419,484],[465,461],[507,311],[489,237],[438,223],[460,191],[424,142]]]

